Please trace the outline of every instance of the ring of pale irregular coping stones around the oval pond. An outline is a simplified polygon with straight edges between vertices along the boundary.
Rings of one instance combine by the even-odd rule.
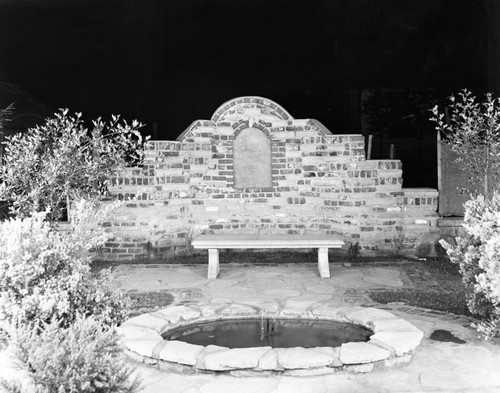
[[[339,371],[366,373],[378,367],[408,363],[423,332],[388,311],[363,307],[318,306],[311,311],[264,308],[245,304],[174,306],[131,318],[117,328],[120,343],[135,360],[182,372],[229,372],[246,376],[262,373],[321,375]],[[241,318],[321,319],[359,324],[374,334],[368,342],[340,347],[226,348],[165,340],[162,334],[200,322]]]

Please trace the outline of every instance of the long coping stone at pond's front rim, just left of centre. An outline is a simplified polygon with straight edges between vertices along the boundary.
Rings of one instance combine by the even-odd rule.
[[[255,347],[212,352],[205,355],[205,368],[214,371],[255,368],[259,359],[270,350],[271,347]]]

